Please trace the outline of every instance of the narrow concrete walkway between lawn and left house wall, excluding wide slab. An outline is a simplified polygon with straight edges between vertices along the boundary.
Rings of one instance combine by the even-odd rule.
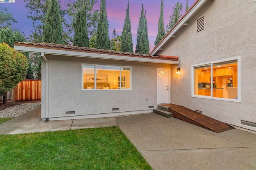
[[[116,126],[116,117],[45,122],[41,119],[41,107],[38,107],[24,115],[20,115],[19,117],[0,124],[0,134],[34,133],[112,126]]]

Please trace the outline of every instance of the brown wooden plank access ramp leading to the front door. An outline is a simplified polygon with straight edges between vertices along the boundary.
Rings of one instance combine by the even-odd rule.
[[[198,127],[206,128],[214,132],[224,132],[233,129],[232,126],[192,111],[186,107],[174,105],[174,104],[161,104],[162,106],[168,107],[169,112],[172,113],[173,117],[176,117],[182,121],[186,121]]]

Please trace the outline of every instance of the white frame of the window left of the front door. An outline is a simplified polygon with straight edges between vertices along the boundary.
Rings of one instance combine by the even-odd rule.
[[[130,89],[122,89],[121,88],[121,81],[120,81],[120,89],[117,88],[117,89],[96,89],[96,86],[94,86],[94,89],[84,89],[84,65],[92,65],[94,66],[94,76],[96,75],[97,73],[97,66],[107,66],[107,67],[120,67],[120,74],[119,76],[121,75],[122,73],[122,70],[121,68],[130,68]],[[103,91],[114,91],[114,90],[132,90],[132,67],[129,67],[129,66],[120,66],[120,65],[100,65],[100,64],[86,64],[86,63],[82,63],[82,76],[81,76],[81,81],[82,81],[82,90],[96,90],[96,91],[99,91],[99,90],[103,90]]]

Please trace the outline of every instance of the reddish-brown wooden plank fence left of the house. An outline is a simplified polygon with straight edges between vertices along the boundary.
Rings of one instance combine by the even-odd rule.
[[[41,100],[41,80],[23,80],[12,93],[13,101]]]

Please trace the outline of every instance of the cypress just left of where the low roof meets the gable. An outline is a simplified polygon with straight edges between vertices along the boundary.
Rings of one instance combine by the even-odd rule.
[[[146,12],[144,15],[144,8],[142,4],[139,25],[137,30],[137,44],[135,53],[149,53],[149,42],[148,42],[148,27],[146,20]]]

